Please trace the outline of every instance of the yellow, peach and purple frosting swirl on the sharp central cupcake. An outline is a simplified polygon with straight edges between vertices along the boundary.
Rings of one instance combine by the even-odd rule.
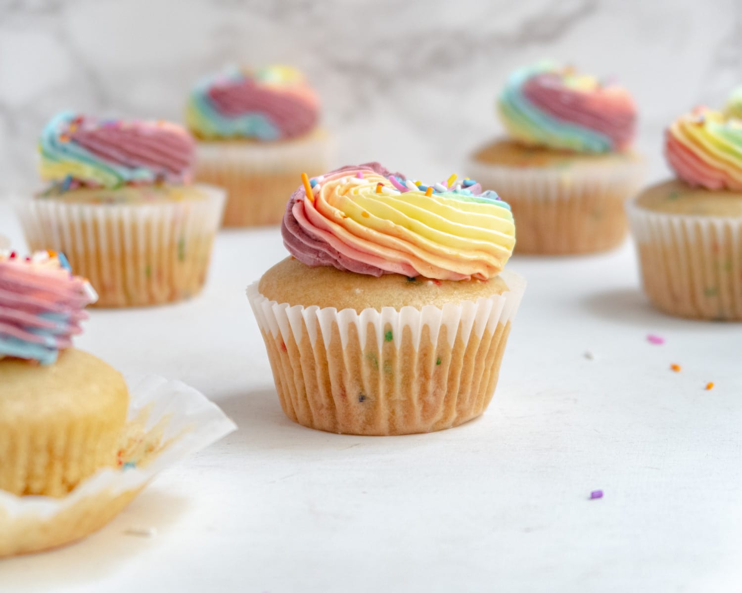
[[[426,186],[378,163],[307,180],[289,200],[281,234],[309,266],[440,280],[490,279],[515,245],[510,207],[495,192],[455,176]]]

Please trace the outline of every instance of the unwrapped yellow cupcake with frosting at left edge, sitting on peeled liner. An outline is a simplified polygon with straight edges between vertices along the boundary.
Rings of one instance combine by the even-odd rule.
[[[95,291],[63,256],[0,253],[0,490],[62,497],[116,465],[128,390],[72,348]]]

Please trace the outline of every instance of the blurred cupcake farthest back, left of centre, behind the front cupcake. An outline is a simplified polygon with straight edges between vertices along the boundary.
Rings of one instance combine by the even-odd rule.
[[[318,96],[291,67],[230,67],[203,79],[185,121],[199,140],[196,179],[228,193],[226,226],[278,225],[301,172],[328,165]]]

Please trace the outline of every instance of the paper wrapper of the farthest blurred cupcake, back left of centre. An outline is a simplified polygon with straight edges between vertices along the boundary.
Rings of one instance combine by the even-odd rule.
[[[324,131],[280,142],[202,141],[195,177],[226,190],[225,226],[278,225],[301,173],[324,173],[334,153]]]

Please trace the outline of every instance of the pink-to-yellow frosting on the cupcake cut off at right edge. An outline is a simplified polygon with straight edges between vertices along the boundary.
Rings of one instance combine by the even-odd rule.
[[[684,182],[710,190],[742,190],[742,119],[697,107],[665,134],[665,154]]]

